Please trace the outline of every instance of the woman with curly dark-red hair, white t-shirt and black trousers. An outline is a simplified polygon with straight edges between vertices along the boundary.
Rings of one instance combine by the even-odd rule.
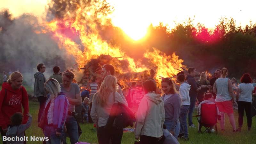
[[[243,117],[244,117],[244,110],[247,117],[247,126],[248,130],[251,130],[252,127],[252,117],[251,117],[251,108],[252,108],[252,92],[254,90],[252,85],[252,78],[250,74],[245,73],[241,79],[241,84],[237,87],[236,92],[236,100],[238,101],[238,125],[239,130],[241,130],[243,125]]]

